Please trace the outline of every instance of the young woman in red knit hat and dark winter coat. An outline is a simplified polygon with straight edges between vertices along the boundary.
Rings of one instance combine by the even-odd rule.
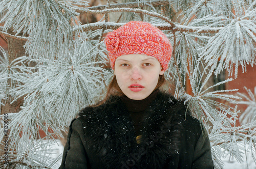
[[[114,78],[103,102],[72,121],[60,168],[213,168],[199,121],[159,90],[173,50],[168,38],[131,21],[105,44]]]

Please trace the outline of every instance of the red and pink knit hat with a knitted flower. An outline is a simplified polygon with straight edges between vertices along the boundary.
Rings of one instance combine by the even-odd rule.
[[[173,47],[169,39],[156,26],[142,21],[130,21],[105,37],[106,49],[112,69],[123,54],[145,54],[155,57],[165,71]]]

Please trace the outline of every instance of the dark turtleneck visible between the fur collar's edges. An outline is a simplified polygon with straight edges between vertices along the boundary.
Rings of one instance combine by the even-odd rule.
[[[125,104],[127,110],[130,113],[130,117],[134,122],[134,128],[136,135],[141,135],[142,129],[142,119],[146,108],[150,103],[156,98],[158,90],[152,92],[149,96],[142,100],[132,100],[126,96],[121,97],[123,103]]]

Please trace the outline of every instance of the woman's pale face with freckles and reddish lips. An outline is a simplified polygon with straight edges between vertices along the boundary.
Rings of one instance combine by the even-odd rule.
[[[164,71],[159,61],[144,54],[124,54],[116,59],[114,74],[122,92],[133,100],[149,96]]]

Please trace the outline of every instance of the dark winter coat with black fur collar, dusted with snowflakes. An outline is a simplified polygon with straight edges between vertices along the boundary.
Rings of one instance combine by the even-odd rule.
[[[140,144],[117,97],[72,121],[60,168],[213,168],[210,143],[184,101],[158,93],[145,112]]]

